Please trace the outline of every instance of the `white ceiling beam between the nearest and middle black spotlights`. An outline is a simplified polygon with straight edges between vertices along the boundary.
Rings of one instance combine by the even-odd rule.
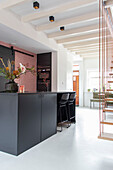
[[[80,8],[80,7],[84,7],[84,6],[88,6],[88,5],[93,5],[95,3],[97,3],[96,0],[84,0],[84,1],[80,0],[80,1],[76,1],[76,2],[64,3],[63,5],[60,5],[59,7],[56,7],[56,8],[51,9],[51,10],[41,11],[41,12],[37,11],[34,14],[28,14],[26,16],[23,16],[22,21],[23,22],[30,22],[30,21],[37,20],[37,19],[47,17],[47,16],[50,16],[50,15],[63,13],[63,12],[70,10],[70,9]]]

